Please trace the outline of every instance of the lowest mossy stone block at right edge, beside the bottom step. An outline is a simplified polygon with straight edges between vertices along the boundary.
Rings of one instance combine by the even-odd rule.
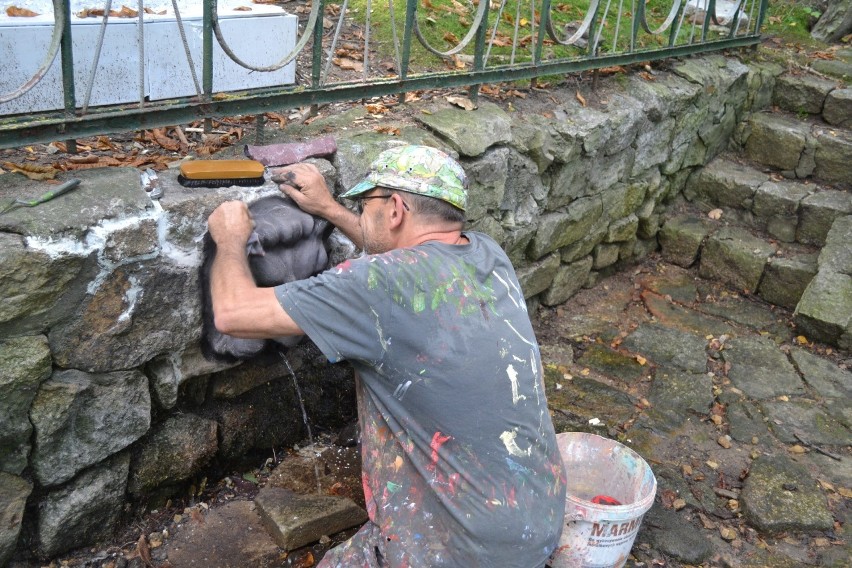
[[[819,271],[802,294],[794,320],[808,339],[837,345],[852,322],[852,276]]]

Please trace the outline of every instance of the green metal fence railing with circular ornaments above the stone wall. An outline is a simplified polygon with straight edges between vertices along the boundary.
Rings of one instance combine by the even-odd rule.
[[[168,61],[145,57],[146,38],[149,48],[151,40],[144,26],[155,18],[145,0],[138,0],[136,9],[124,6],[123,13],[106,0],[103,10],[88,12],[99,15],[100,33],[93,50],[89,45],[87,57],[92,59],[86,62],[88,76],[81,79],[79,45],[74,41],[79,32],[72,25],[81,14],[72,14],[72,1],[79,0],[53,0],[49,45],[32,76],[22,84],[7,84],[8,79],[4,83],[0,77],[0,148],[420,89],[465,86],[476,97],[483,84],[754,45],[760,41],[768,6],[768,0],[342,0],[340,4],[297,0],[285,5],[299,17],[297,37],[283,47],[286,54],[278,61],[258,65],[237,53],[239,35],[226,37],[217,0],[197,0],[202,11],[193,28],[201,36],[195,56],[187,19],[181,17],[188,8],[171,0],[178,34],[172,34],[174,45],[166,46],[168,56],[163,59]],[[267,1],[255,0],[260,5]],[[138,75],[116,80],[137,83],[138,97],[95,106],[92,85],[98,71],[109,66],[103,59],[105,32],[117,25],[120,16],[125,18],[122,29],[132,30],[122,31],[121,37],[127,40],[127,52],[138,51],[133,59]],[[0,45],[4,35],[7,44],[14,42],[11,30],[20,29],[25,18],[0,18],[5,20],[0,20]],[[276,37],[254,39],[282,52]],[[163,46],[157,47],[163,53]],[[221,57],[246,73],[276,73],[287,66],[295,73],[286,84],[220,92],[214,85],[217,53],[224,53]],[[166,69],[160,79],[151,78],[152,66],[176,62],[181,62],[183,72],[170,75]],[[14,61],[5,61],[6,65],[17,68]],[[32,97],[31,91],[43,88],[40,82],[51,68],[56,74],[57,66],[61,97],[54,96],[61,103],[56,108],[3,114],[4,103]],[[152,82],[168,82],[178,74],[188,81],[186,70],[192,92],[152,100],[148,89]],[[109,82],[111,77],[100,80]]]

